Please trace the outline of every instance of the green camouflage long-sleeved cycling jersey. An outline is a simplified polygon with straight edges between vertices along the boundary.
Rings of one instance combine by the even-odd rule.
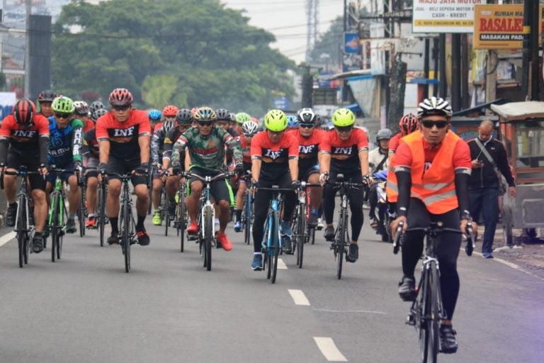
[[[227,131],[213,126],[210,135],[204,136],[198,128],[189,128],[174,143],[171,163],[179,165],[180,153],[187,148],[191,157],[191,168],[222,171],[225,170],[225,145],[232,152],[235,164],[242,165],[242,150]]]

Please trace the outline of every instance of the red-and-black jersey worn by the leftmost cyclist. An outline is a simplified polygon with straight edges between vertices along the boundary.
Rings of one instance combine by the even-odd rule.
[[[41,115],[35,115],[28,128],[21,127],[13,115],[6,116],[0,128],[0,162],[6,164],[9,147],[9,152],[24,159],[35,159],[36,152],[40,151],[40,162],[46,164],[48,126],[47,118]],[[40,140],[45,140],[42,147]]]

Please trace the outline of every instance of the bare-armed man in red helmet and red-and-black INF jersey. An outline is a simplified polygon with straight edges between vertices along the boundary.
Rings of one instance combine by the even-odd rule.
[[[108,101],[111,112],[96,121],[96,140],[100,150],[99,172],[108,174],[132,174],[136,193],[137,239],[142,246],[149,245],[149,235],[144,221],[149,206],[147,174],[149,172],[149,144],[151,125],[147,112],[132,108],[134,98],[128,89],[114,89]],[[111,224],[108,244],[119,243],[119,196],[121,181],[115,175],[108,176],[106,209]]]

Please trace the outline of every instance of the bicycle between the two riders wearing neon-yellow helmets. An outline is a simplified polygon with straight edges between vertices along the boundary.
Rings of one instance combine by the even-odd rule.
[[[295,207],[295,213],[293,214],[293,221],[291,222],[293,230],[293,253],[297,254],[297,266],[302,269],[302,259],[304,257],[304,244],[310,241],[312,231],[314,228],[310,228],[308,225],[308,218],[310,216],[310,209],[308,208],[308,188],[321,186],[321,184],[310,184],[306,181],[301,181],[297,187],[297,206]]]

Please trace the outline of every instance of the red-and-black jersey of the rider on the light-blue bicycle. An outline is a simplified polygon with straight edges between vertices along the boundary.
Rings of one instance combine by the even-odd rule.
[[[251,140],[251,159],[259,159],[261,178],[275,180],[289,172],[289,159],[298,157],[298,142],[293,135],[284,133],[278,143],[272,143],[266,131]]]

